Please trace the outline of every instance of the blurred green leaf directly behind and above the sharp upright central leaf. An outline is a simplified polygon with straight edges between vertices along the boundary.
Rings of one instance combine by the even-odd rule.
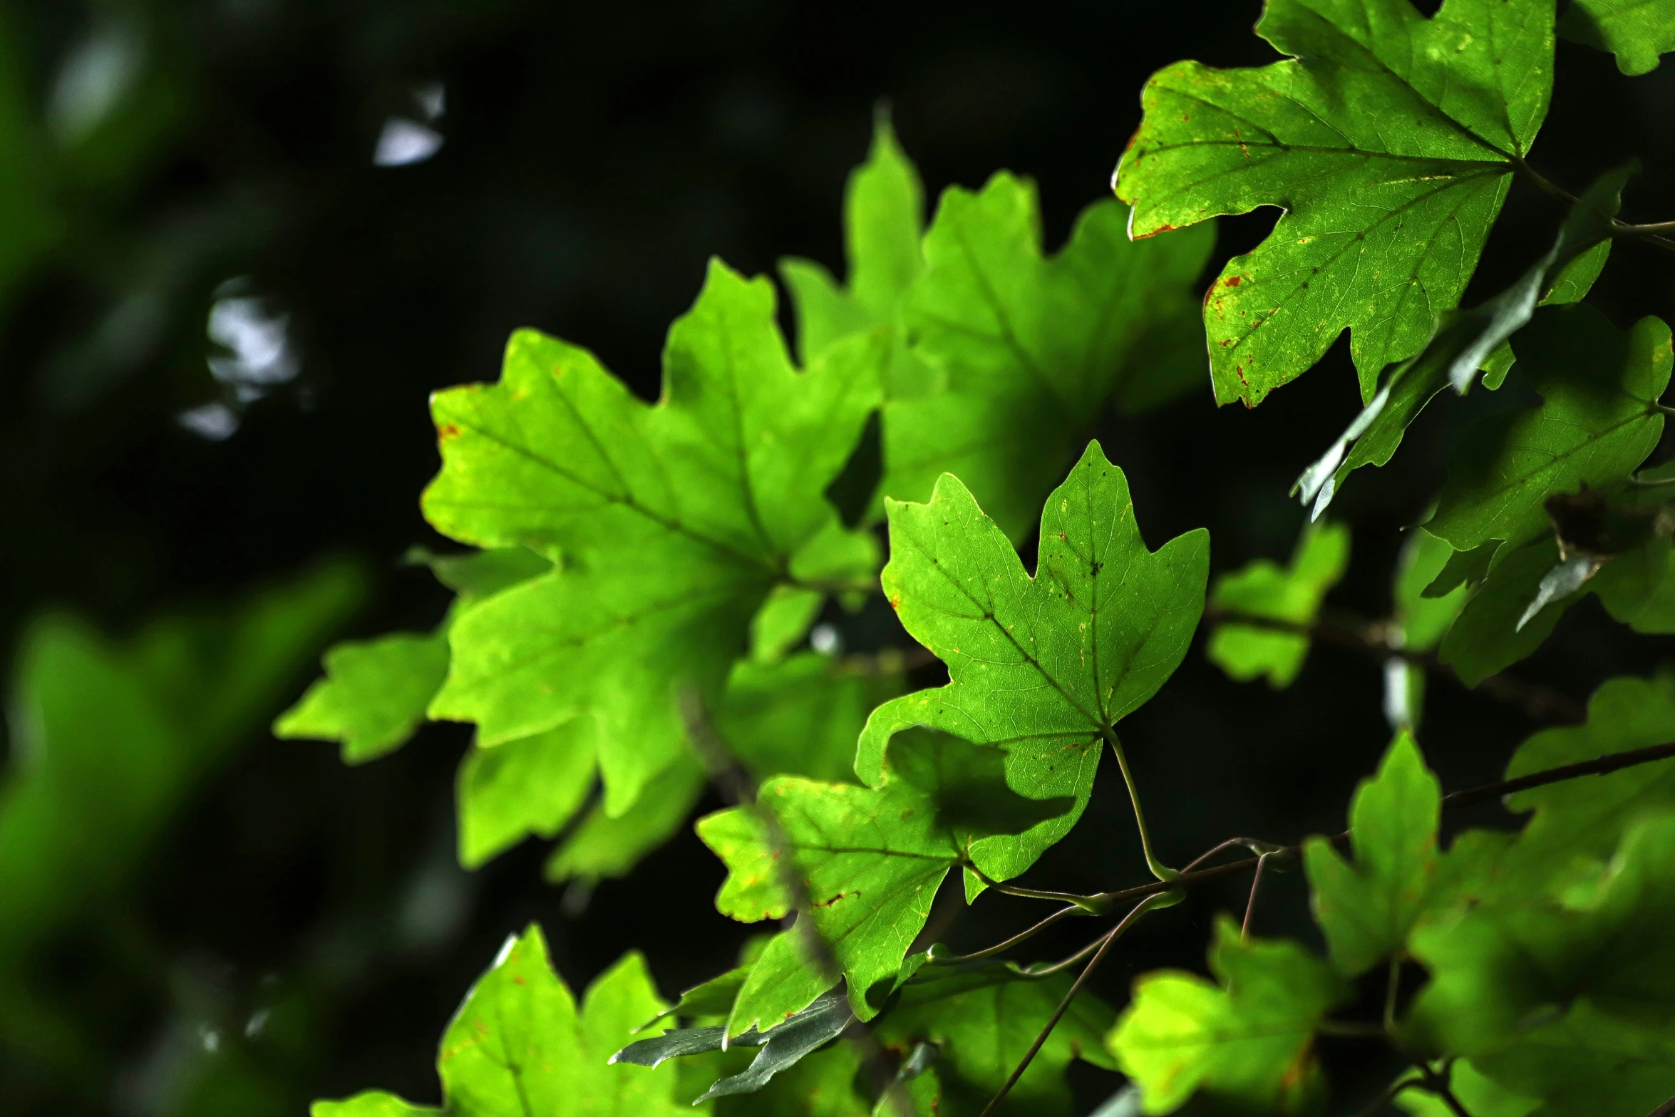
[[[1157,340],[1147,335],[1194,320],[1189,286],[1213,239],[1204,229],[1131,243],[1126,214],[1107,201],[1084,209],[1049,258],[1033,183],[997,174],[975,194],[948,189],[925,236],[926,271],[903,306],[913,353],[938,389],[891,394],[884,492],[925,501],[951,472],[1010,539],[1023,538],[1104,402],[1157,375],[1179,380],[1151,363]],[[1203,335],[1189,378],[1201,375],[1199,345]]]

